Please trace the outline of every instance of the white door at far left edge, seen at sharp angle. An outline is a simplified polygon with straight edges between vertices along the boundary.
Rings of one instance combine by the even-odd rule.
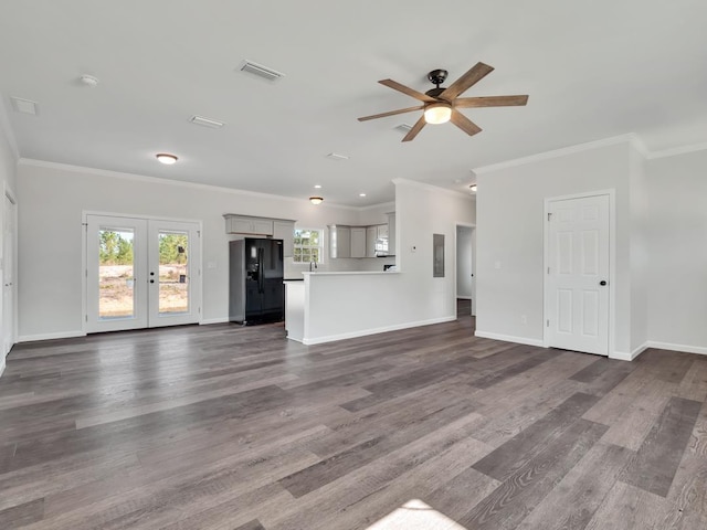
[[[14,344],[14,241],[15,204],[4,197],[2,213],[2,353]]]

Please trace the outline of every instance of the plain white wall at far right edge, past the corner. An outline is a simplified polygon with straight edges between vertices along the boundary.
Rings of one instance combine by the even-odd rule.
[[[707,150],[650,160],[652,346],[707,353]]]

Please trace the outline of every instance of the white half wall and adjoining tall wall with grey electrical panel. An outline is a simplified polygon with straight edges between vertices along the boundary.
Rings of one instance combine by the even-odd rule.
[[[475,203],[440,188],[402,179],[393,182],[400,272],[309,276],[305,343],[456,318],[456,224],[474,223]],[[432,234],[444,234],[444,277],[432,275]]]

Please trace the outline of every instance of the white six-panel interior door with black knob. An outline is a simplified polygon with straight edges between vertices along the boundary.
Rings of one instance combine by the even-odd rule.
[[[609,195],[549,201],[548,346],[609,354]]]

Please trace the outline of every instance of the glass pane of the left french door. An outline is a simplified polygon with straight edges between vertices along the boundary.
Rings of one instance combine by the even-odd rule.
[[[98,318],[135,316],[133,229],[98,231]]]

